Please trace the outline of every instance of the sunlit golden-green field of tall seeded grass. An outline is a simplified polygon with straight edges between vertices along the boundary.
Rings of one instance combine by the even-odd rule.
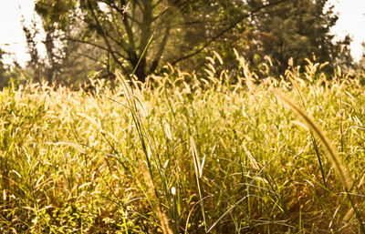
[[[5,88],[0,232],[362,232],[360,78],[309,63],[257,82],[243,59],[235,76],[208,61],[143,85]]]

